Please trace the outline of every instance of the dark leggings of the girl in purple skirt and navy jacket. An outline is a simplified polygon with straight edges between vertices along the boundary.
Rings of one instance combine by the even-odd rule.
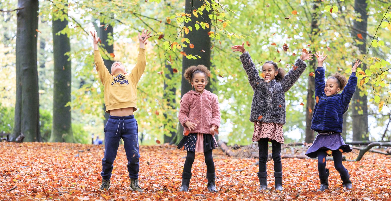
[[[326,175],[326,150],[318,150],[318,171],[319,175]],[[341,151],[333,151],[334,167],[339,172],[341,177],[346,177],[349,173],[348,170],[342,165],[342,153]],[[324,162],[323,162],[324,159]]]

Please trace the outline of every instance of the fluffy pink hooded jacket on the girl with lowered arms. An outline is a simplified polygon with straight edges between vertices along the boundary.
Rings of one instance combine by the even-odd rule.
[[[208,90],[204,90],[202,94],[193,90],[185,93],[180,102],[178,119],[185,128],[183,135],[187,131],[189,133],[211,134],[210,128],[213,125],[217,129],[220,126],[220,107],[217,95]],[[196,129],[190,131],[185,125],[187,121],[197,124]]]

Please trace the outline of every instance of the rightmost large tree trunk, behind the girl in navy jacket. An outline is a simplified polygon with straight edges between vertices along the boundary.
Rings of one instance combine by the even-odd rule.
[[[352,37],[362,42],[362,44],[356,44],[361,54],[366,53],[365,39],[367,37],[367,2],[366,0],[355,0],[354,11],[360,13],[362,21],[353,21],[353,28],[351,30]],[[360,32],[357,30],[361,30]],[[357,34],[361,34],[363,39],[359,39]],[[365,61],[362,61],[362,70],[365,71]],[[352,98],[352,127],[353,127],[353,140],[369,140],[368,136],[368,102],[366,95],[360,97],[361,90],[356,86],[356,91]],[[362,112],[361,112],[362,111]],[[362,113],[362,114],[360,114]]]

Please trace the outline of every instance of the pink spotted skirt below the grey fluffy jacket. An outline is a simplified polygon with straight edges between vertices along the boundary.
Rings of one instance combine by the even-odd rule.
[[[253,142],[258,142],[261,138],[269,138],[284,144],[284,132],[282,124],[265,123],[256,121],[254,124]]]

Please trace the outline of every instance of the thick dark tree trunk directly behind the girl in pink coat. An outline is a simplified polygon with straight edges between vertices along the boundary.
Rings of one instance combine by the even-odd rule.
[[[195,9],[197,9],[197,8],[201,7],[201,5],[204,5],[203,1],[186,0],[185,1],[185,13],[191,13],[191,11],[194,10],[193,7],[195,7]],[[206,29],[200,28],[198,31],[194,28],[194,22],[196,22],[196,21],[199,21],[199,22],[203,21],[206,23],[210,23],[210,18],[207,17],[208,14],[211,14],[211,11],[209,11],[209,12],[207,12],[206,10],[203,11],[203,16],[205,16],[204,19],[206,21],[204,21],[203,18],[201,18],[200,16],[198,18],[196,18],[192,14],[190,17],[192,21],[185,23],[186,27],[192,26],[193,31],[190,31],[188,34],[184,34],[183,37],[188,38],[190,40],[190,43],[192,43],[194,45],[194,48],[190,48],[190,46],[188,45],[187,47],[183,48],[183,51],[186,52],[186,54],[199,55],[199,56],[201,56],[201,58],[187,59],[186,57],[183,57],[183,59],[182,59],[182,75],[185,73],[185,70],[189,66],[192,66],[192,65],[202,64],[202,65],[205,65],[206,67],[208,67],[208,69],[210,70],[210,66],[211,66],[211,62],[210,62],[211,41],[210,41],[210,37],[208,35],[208,32],[210,32],[210,28],[206,28]],[[205,52],[201,52],[201,50],[205,50]],[[212,83],[208,83],[206,85],[205,89],[210,91],[211,84]],[[185,95],[185,93],[187,93],[190,90],[192,90],[192,86],[182,76],[181,98],[183,97],[183,95]],[[174,138],[174,140],[176,140],[176,142],[179,142],[181,140],[181,138],[183,137],[182,133],[183,133],[183,126],[181,124],[179,124],[178,133],[177,133],[178,136],[176,138]]]

